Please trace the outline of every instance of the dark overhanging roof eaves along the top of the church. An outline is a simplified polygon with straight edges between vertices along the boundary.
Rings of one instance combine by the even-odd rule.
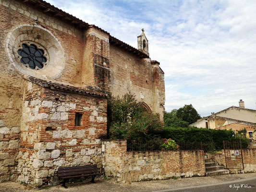
[[[73,16],[72,14],[69,14],[67,12],[62,11],[61,9],[51,5],[50,3],[44,1],[44,0],[17,0],[29,7],[32,7],[34,9],[37,9],[40,12],[44,12],[45,14],[55,17],[62,22],[72,25],[75,28],[78,28],[80,30],[86,30],[89,27],[95,27],[98,30],[108,34],[110,36],[110,33],[101,29],[100,27],[94,25],[94,24],[87,24],[81,19],[78,19],[77,17]],[[121,40],[117,39],[114,36],[110,36],[110,44],[115,45],[117,47],[122,48],[123,50],[130,52],[134,55],[137,55],[140,58],[149,58],[147,54],[145,54],[143,51],[140,51]]]

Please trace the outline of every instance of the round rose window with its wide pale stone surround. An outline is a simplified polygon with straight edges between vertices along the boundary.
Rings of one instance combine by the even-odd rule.
[[[6,52],[19,71],[37,78],[55,79],[64,70],[64,51],[58,39],[39,25],[23,24],[7,36]]]

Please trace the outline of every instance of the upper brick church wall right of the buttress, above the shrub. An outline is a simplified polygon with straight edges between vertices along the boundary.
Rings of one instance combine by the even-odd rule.
[[[112,95],[131,92],[135,99],[146,103],[163,120],[165,87],[159,63],[141,59],[113,45],[110,45],[110,60],[109,89]]]

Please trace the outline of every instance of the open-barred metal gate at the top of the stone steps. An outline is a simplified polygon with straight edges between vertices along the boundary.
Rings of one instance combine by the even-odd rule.
[[[244,169],[242,143],[237,141],[223,141],[226,168]]]

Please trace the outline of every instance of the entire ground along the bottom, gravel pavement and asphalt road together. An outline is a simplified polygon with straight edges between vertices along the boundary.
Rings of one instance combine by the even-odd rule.
[[[55,186],[33,189],[19,182],[0,183],[0,192],[255,192],[256,173],[228,174],[170,180],[117,183],[103,178],[68,183],[68,189]],[[241,186],[242,185],[242,186]],[[245,187],[246,185],[246,187]]]

